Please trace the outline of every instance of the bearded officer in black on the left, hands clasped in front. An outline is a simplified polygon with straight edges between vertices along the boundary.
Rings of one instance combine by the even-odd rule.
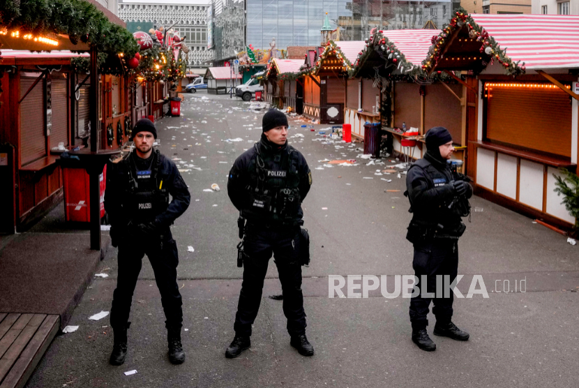
[[[161,294],[169,359],[181,364],[185,353],[181,345],[181,294],[176,283],[179,258],[170,225],[186,211],[190,194],[175,163],[153,150],[157,137],[154,124],[140,119],[131,135],[135,150],[107,167],[105,209],[112,245],[119,247],[119,276],[110,318],[114,331],[110,364],[121,365],[125,361],[130,304],[144,255],[151,262]]]

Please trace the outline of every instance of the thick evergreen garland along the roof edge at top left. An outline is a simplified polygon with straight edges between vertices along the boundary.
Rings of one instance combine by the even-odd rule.
[[[127,58],[139,49],[132,33],[83,0],[0,0],[0,24],[34,35],[63,33],[72,43],[80,40],[99,52],[122,52]]]

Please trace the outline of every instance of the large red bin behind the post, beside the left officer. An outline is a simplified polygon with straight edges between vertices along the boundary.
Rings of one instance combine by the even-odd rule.
[[[76,162],[76,163],[75,163]],[[84,168],[75,166],[76,160],[60,159],[64,191],[64,218],[66,221],[91,222],[91,195],[89,174]],[[105,216],[105,188],[107,184],[107,166],[99,175],[100,217]]]

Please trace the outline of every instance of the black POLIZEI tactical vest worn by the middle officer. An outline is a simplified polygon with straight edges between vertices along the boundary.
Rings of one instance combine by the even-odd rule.
[[[241,215],[278,223],[295,221],[301,205],[298,155],[293,147],[279,154],[263,155],[255,144],[256,157],[248,166],[248,206]]]

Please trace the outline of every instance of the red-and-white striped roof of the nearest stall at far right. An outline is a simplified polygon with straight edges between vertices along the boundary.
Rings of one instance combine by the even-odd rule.
[[[508,57],[525,62],[527,69],[579,68],[579,16],[470,16],[506,49]]]

